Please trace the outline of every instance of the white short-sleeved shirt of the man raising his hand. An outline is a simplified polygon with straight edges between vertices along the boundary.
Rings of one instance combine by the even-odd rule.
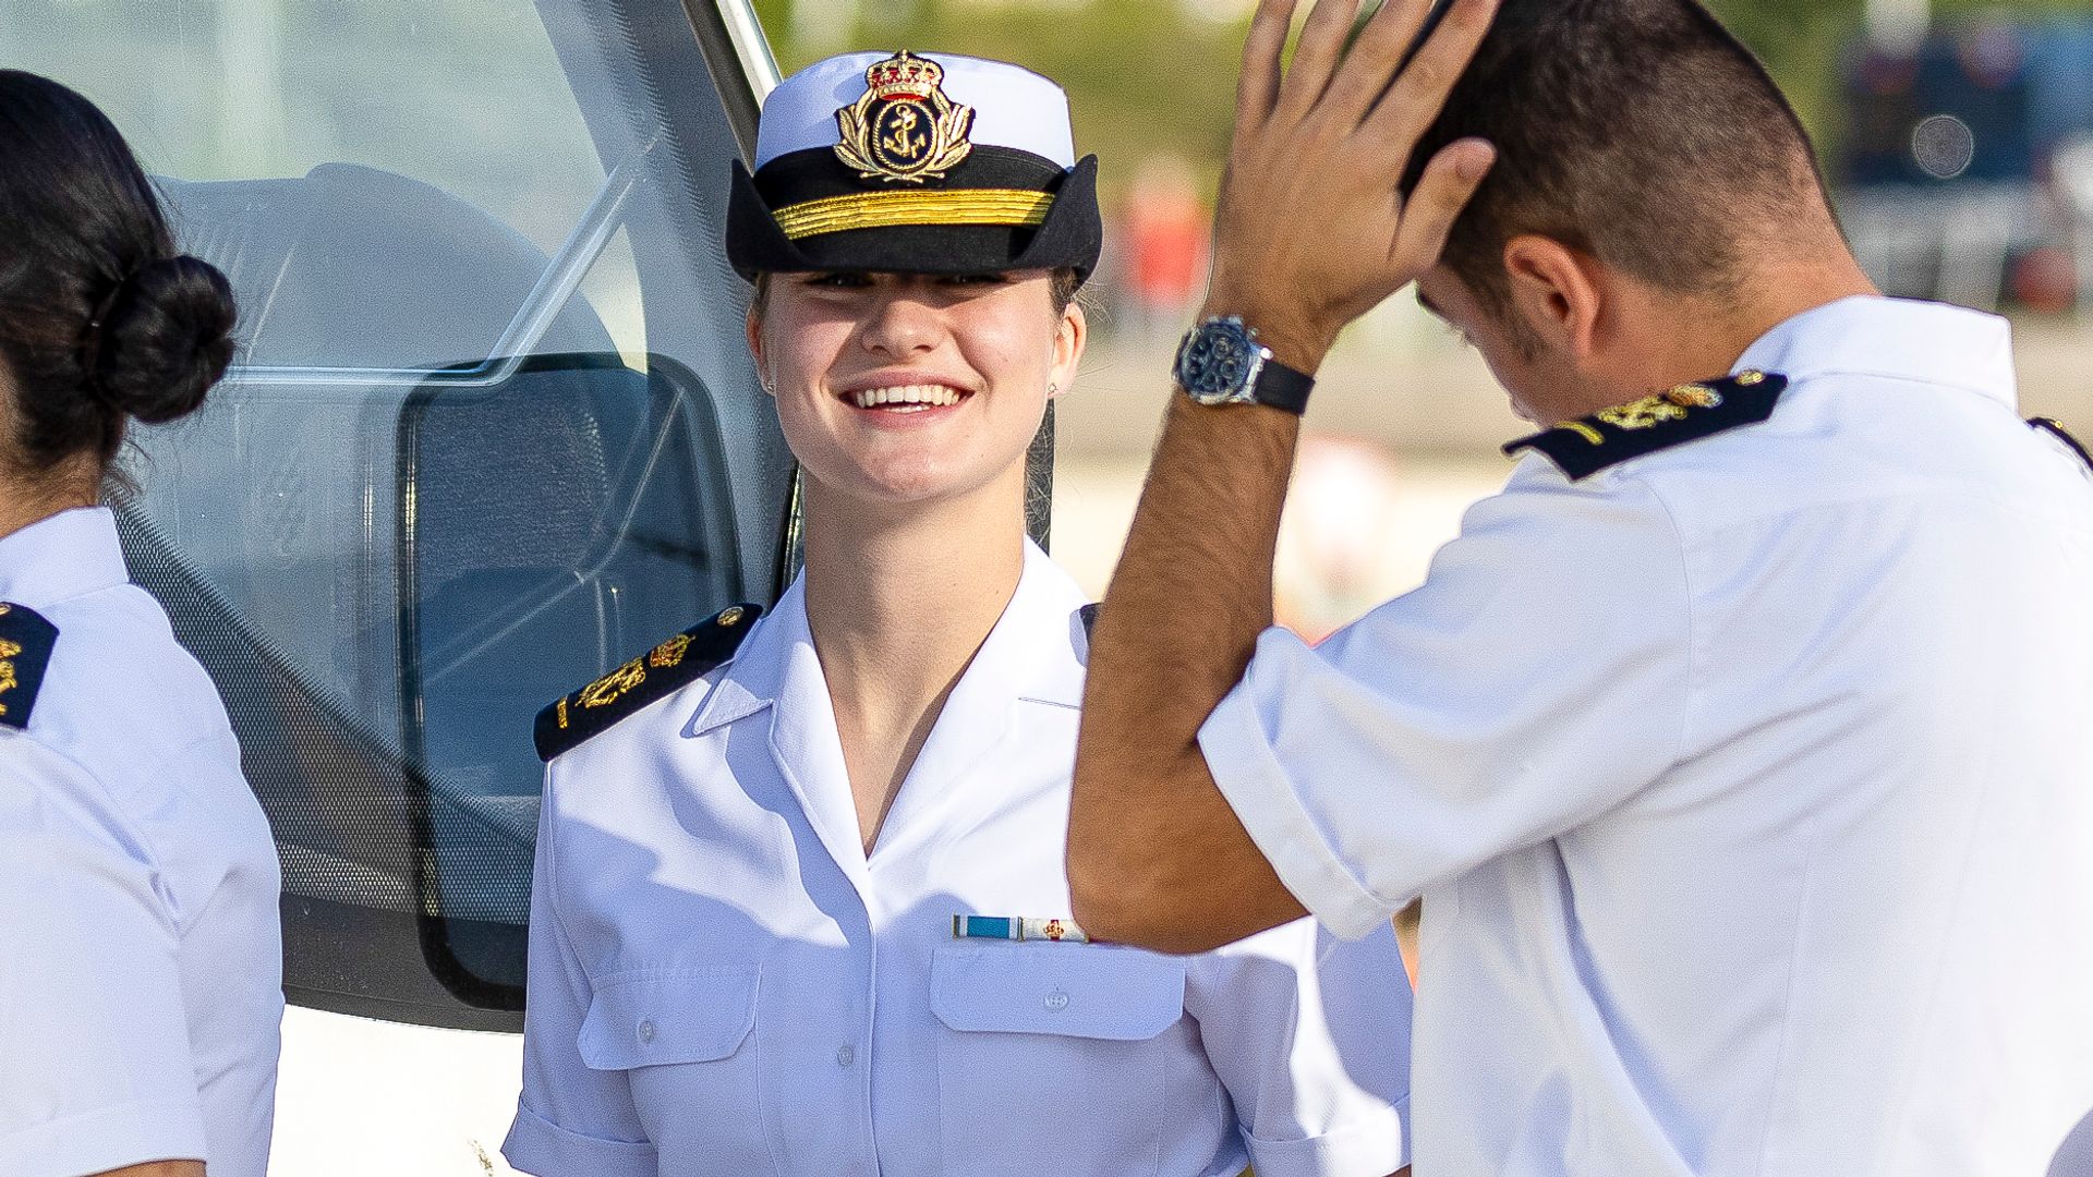
[[[1528,457],[1201,731],[1335,930],[1423,892],[1419,1173],[2030,1177],[2093,1106],[2093,480],[1990,316],[1741,369],[1771,421]]]

